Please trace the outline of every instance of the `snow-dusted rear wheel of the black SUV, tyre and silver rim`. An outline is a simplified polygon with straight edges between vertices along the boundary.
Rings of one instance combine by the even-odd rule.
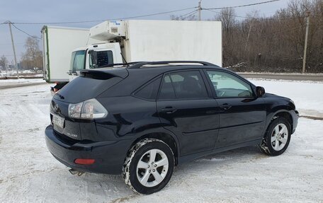
[[[143,139],[128,152],[123,179],[135,192],[145,195],[162,190],[171,179],[174,154],[164,141]]]

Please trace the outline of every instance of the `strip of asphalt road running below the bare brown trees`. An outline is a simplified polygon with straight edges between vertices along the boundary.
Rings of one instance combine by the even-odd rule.
[[[238,73],[248,79],[276,79],[289,81],[323,81],[323,75],[307,75],[307,74],[246,74]]]

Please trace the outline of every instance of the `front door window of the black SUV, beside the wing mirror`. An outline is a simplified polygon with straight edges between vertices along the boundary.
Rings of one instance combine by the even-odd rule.
[[[207,71],[217,97],[251,97],[251,86],[232,74],[222,71]]]

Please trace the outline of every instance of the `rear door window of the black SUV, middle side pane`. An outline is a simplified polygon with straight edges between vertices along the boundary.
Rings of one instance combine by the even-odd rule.
[[[208,98],[200,71],[181,71],[164,77],[159,99]]]

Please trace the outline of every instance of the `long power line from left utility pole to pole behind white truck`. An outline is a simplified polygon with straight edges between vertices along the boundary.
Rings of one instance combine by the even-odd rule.
[[[151,13],[151,14],[147,14],[147,15],[140,15],[140,16],[129,16],[129,17],[125,17],[125,18],[112,18],[112,19],[102,19],[102,20],[94,20],[94,21],[71,21],[71,22],[47,22],[47,23],[23,23],[23,22],[14,22],[14,24],[21,24],[21,25],[50,25],[50,24],[74,24],[74,23],[94,23],[94,22],[102,22],[102,21],[117,21],[117,20],[122,20],[122,19],[130,19],[130,18],[142,18],[142,17],[147,17],[147,16],[157,16],[157,15],[162,15],[162,14],[167,14],[167,13],[174,13],[174,12],[179,12],[179,11],[186,11],[186,10],[190,10],[193,8],[197,8],[195,7],[191,7],[191,8],[182,8],[179,10],[174,10],[174,11],[166,11],[166,12],[161,12],[161,13]],[[6,24],[5,23],[1,23],[1,24]]]

